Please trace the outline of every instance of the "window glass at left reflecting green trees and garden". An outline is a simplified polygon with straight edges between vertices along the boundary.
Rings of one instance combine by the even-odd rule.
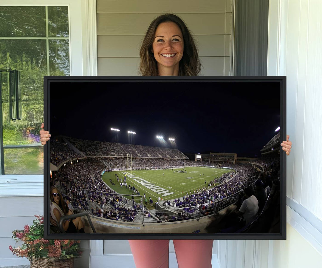
[[[68,7],[2,6],[0,25],[0,68],[20,71],[23,111],[22,120],[10,120],[7,78],[2,74],[5,174],[41,174],[42,146],[26,147],[40,144],[43,76],[70,74]]]

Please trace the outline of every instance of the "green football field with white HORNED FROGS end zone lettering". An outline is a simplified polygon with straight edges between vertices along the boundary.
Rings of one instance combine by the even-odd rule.
[[[227,169],[217,169],[210,167],[187,167],[187,173],[178,173],[183,168],[174,168],[166,170],[134,170],[132,171],[114,171],[105,172],[102,176],[103,181],[119,194],[132,194],[133,192],[126,189],[117,182],[115,174],[124,182],[125,173],[127,184],[134,186],[140,195],[146,194],[147,199],[151,196],[155,202],[160,196],[163,200],[183,197],[186,192],[190,194],[196,189],[206,186],[215,178],[222,174],[230,172]],[[201,174],[201,175],[200,175]],[[206,181],[206,184],[205,184]],[[131,199],[131,197],[128,197]],[[138,202],[139,198],[135,198]]]

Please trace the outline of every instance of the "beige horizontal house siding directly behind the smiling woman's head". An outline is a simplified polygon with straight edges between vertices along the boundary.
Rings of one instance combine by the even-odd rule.
[[[192,31],[201,75],[232,74],[232,0],[98,0],[98,74],[138,75],[144,34],[150,22],[163,13],[179,15]]]

